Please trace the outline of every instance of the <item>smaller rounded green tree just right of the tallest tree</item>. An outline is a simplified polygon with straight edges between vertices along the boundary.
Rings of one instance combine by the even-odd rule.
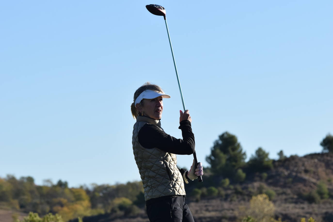
[[[255,155],[252,155],[248,165],[253,171],[260,172],[273,168],[273,160],[268,157],[269,153],[265,152],[261,147],[255,151]]]

